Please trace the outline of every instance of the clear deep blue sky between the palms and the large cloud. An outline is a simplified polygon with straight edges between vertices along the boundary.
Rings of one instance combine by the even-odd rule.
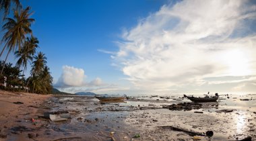
[[[108,54],[122,28],[135,26],[139,17],[159,9],[164,1],[24,1],[35,11],[32,29],[58,79],[62,66],[84,68],[88,79],[115,81],[122,73],[110,66]],[[107,75],[106,75],[107,73]],[[115,79],[113,79],[115,77]]]

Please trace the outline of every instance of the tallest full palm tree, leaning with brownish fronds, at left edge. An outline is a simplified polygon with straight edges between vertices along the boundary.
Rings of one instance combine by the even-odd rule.
[[[5,46],[0,54],[0,57],[3,54],[3,51],[8,46],[9,51],[5,58],[5,61],[9,55],[11,50],[15,50],[15,47],[18,47],[20,50],[20,46],[22,46],[24,40],[26,39],[26,34],[32,34],[32,30],[30,29],[31,23],[34,19],[29,18],[32,13],[29,13],[30,7],[26,9],[16,9],[13,11],[14,16],[13,19],[6,17],[6,23],[3,25],[3,30],[6,30],[3,35],[2,42],[5,42]],[[5,63],[5,62],[4,62]],[[3,68],[1,71],[1,75],[3,73]]]

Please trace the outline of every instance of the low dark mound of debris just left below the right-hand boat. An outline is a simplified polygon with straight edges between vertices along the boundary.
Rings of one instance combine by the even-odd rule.
[[[201,109],[200,103],[178,103],[172,105],[164,105],[162,108],[170,109],[170,110],[177,110],[177,111],[190,111],[191,109]]]

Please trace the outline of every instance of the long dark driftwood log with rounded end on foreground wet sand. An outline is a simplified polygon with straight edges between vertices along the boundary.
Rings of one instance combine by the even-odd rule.
[[[181,127],[173,127],[173,126],[159,126],[162,129],[168,129],[168,130],[173,130],[173,131],[177,131],[177,132],[184,132],[186,134],[188,134],[189,136],[208,136],[208,137],[212,137],[214,135],[214,132],[212,131],[207,131],[207,134],[203,134],[203,133],[199,133],[199,132],[195,132],[193,130],[187,130],[185,128],[181,128]]]

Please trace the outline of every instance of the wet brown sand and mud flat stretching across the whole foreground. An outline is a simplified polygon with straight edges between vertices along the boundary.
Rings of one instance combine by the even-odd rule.
[[[1,91],[0,100],[22,101],[20,94],[2,93]],[[193,136],[185,132],[162,126],[185,128],[194,132],[214,132],[211,138],[200,136],[201,140],[240,140],[247,136],[256,140],[256,113],[253,113],[256,111],[256,95],[230,96],[230,99],[223,99],[218,103],[201,103],[199,109],[189,111],[162,108],[163,105],[189,102],[187,99],[173,100],[178,96],[172,99],[135,97],[125,103],[102,104],[94,97],[21,95],[24,97],[24,104],[0,101],[1,109],[8,105],[7,110],[1,111],[0,140],[193,140]],[[252,100],[240,100],[245,98]],[[27,99],[29,100],[25,101]],[[233,110],[224,112],[223,109]],[[41,118],[46,111],[69,111],[71,118],[65,122],[53,122]],[[9,114],[6,115],[7,113]],[[31,118],[36,122],[26,120]],[[14,128],[19,126],[25,128]],[[110,138],[111,132],[113,138]],[[34,136],[29,138],[28,134]],[[139,134],[139,138],[134,138],[136,134]]]

